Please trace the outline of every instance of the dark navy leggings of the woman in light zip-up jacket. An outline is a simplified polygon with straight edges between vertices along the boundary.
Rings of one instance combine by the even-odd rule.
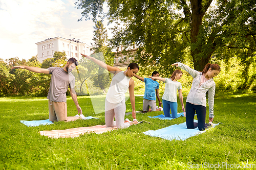
[[[197,112],[198,123],[194,122],[195,112]],[[187,129],[195,129],[198,127],[200,131],[207,129],[210,125],[205,124],[206,107],[202,105],[193,105],[186,103],[186,124]]]

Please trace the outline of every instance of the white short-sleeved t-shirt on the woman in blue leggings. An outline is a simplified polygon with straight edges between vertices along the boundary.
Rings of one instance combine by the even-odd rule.
[[[177,89],[181,89],[180,82],[174,82],[172,79],[164,78],[165,79],[165,87],[162,100],[166,100],[169,102],[177,102]]]

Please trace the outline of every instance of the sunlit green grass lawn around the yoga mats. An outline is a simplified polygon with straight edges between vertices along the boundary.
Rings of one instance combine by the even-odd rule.
[[[137,111],[142,110],[142,101],[142,96],[136,96]],[[147,117],[163,114],[162,111],[137,114],[138,120],[146,120],[151,124],[103,134],[52,139],[38,133],[42,130],[104,125],[104,114],[94,114],[88,96],[79,96],[78,102],[85,116],[99,119],[26,127],[20,120],[49,118],[48,100],[32,97],[0,98],[0,169],[189,169],[193,164],[193,167],[202,164],[204,168],[201,169],[207,169],[206,165],[213,167],[218,163],[229,164],[233,168],[237,164],[240,167],[246,163],[256,164],[255,93],[217,93],[214,123],[223,124],[185,141],[169,141],[142,133],[185,122],[185,117],[173,120]],[[68,116],[77,114],[70,97],[67,103]],[[126,112],[131,111],[129,100],[126,102]],[[178,112],[181,112],[179,101]],[[125,118],[132,119],[132,115]]]

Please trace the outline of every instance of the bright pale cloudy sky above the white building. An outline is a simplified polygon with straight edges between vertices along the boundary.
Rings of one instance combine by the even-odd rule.
[[[30,59],[37,54],[36,42],[63,37],[93,43],[92,20],[77,21],[81,9],[76,0],[1,0],[0,58]],[[107,22],[104,21],[104,27]],[[111,38],[111,31],[108,36]],[[71,36],[70,36],[71,35]]]

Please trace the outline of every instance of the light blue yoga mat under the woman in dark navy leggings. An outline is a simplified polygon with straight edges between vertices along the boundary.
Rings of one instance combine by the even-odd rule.
[[[194,120],[194,122],[197,122],[197,120]],[[214,124],[212,128],[219,125]],[[186,122],[179,125],[172,125],[166,128],[158,129],[158,130],[150,130],[143,132],[145,135],[155,136],[155,137],[161,137],[166,140],[186,140],[187,138],[191,136],[195,136],[197,134],[204,133],[205,131],[200,131],[198,128],[196,129],[187,129]]]

